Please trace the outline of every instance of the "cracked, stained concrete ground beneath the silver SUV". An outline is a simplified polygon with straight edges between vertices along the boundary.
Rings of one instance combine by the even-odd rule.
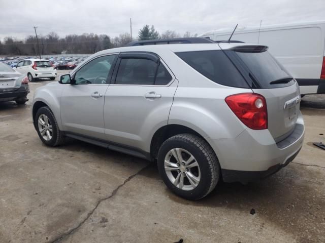
[[[0,242],[325,242],[325,150],[312,145],[325,142],[325,95],[304,97],[304,146],[286,168],[187,201],[145,160],[43,145],[30,104],[47,83],[30,83],[26,105],[0,104]]]

